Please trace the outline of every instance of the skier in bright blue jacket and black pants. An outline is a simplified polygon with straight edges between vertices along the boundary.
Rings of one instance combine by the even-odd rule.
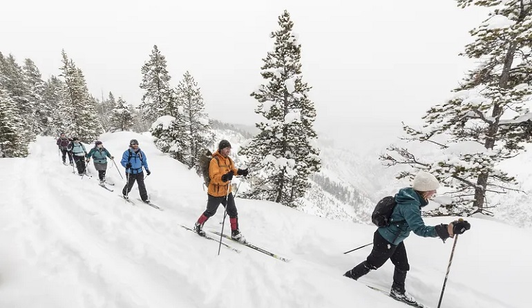
[[[122,155],[120,164],[126,169],[127,183],[126,186],[124,186],[124,189],[122,189],[122,195],[124,195],[124,198],[129,198],[129,192],[133,188],[133,184],[135,184],[136,180],[137,185],[139,186],[140,198],[146,203],[150,202],[148,199],[148,193],[146,192],[146,186],[144,186],[144,172],[142,172],[142,167],[146,169],[146,175],[150,175],[151,172],[148,168],[146,155],[139,148],[139,142],[137,142],[137,139],[131,139],[129,142],[129,148]]]

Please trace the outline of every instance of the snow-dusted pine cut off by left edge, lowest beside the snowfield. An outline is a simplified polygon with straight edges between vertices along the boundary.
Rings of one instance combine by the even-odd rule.
[[[17,103],[0,86],[0,157],[28,155],[28,142],[19,135],[23,130],[23,123]]]

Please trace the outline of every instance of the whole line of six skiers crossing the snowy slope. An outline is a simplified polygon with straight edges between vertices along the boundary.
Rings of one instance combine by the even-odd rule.
[[[62,152],[63,163],[66,164],[66,154],[72,164],[72,159],[76,162],[77,170],[82,175],[86,169],[84,157],[88,162],[91,157],[94,158],[96,170],[99,172],[99,179],[105,182],[105,170],[107,167],[107,157],[113,160],[113,156],[104,148],[102,142],[95,142],[95,147],[86,152],[83,144],[74,137],[70,143],[64,134],[57,139],[57,145]],[[140,150],[136,139],[129,142],[129,148],[122,155],[121,164],[126,169],[127,183],[122,190],[124,198],[131,191],[135,181],[137,182],[140,197],[142,201],[149,202],[146,186],[144,186],[144,172],[150,175],[146,155]],[[217,211],[218,206],[222,204],[231,224],[231,238],[238,242],[246,242],[238,228],[238,211],[231,191],[231,180],[234,175],[247,176],[247,169],[237,169],[233,160],[229,157],[231,153],[231,144],[227,140],[222,140],[218,144],[218,150],[212,154],[208,162],[208,191],[207,191],[207,209],[200,215],[200,218],[194,224],[194,231],[201,236],[205,236],[203,226],[209,218]],[[395,195],[395,207],[390,215],[390,222],[386,226],[379,227],[374,232],[373,249],[366,260],[358,264],[353,269],[345,272],[343,276],[358,280],[361,276],[372,270],[379,269],[388,259],[392,260],[395,265],[393,275],[393,284],[390,296],[405,302],[414,307],[422,307],[417,303],[405,289],[406,273],[410,270],[408,257],[406,254],[405,244],[403,241],[408,238],[410,231],[425,238],[453,238],[457,234],[462,234],[471,228],[465,220],[455,220],[450,224],[439,224],[437,226],[426,226],[421,217],[421,208],[428,204],[428,200],[435,195],[439,188],[437,178],[427,172],[419,171],[412,187],[400,189]]]

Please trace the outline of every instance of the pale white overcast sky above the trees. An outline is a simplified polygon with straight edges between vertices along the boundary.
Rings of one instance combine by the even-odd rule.
[[[486,19],[453,0],[17,0],[1,8],[0,51],[20,64],[31,58],[44,79],[59,74],[64,48],[93,95],[111,90],[136,105],[140,68],[157,44],[173,86],[189,70],[209,115],[239,124],[260,119],[249,93],[263,81],[269,33],[287,9],[316,129],[353,148],[386,145],[401,121],[416,124],[443,102],[473,65],[458,56],[468,30]]]

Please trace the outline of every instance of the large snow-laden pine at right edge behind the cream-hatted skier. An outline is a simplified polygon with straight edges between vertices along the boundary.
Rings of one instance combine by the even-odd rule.
[[[488,19],[471,30],[475,38],[462,55],[479,65],[444,104],[430,108],[424,126],[404,126],[408,137],[434,146],[436,157],[419,157],[408,148],[390,146],[381,156],[388,165],[406,164],[412,177],[419,169],[435,174],[450,188],[453,204],[432,215],[487,213],[486,195],[514,189],[515,177],[499,169],[503,160],[524,151],[530,142],[532,116],[532,1],[457,0],[493,8]]]

